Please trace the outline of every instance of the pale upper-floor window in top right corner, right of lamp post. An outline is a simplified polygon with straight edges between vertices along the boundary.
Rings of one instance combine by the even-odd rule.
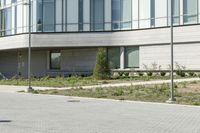
[[[197,23],[198,0],[183,0],[184,24]]]

